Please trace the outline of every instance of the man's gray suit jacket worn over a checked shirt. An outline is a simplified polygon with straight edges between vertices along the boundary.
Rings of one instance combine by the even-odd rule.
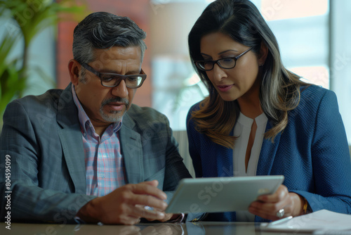
[[[191,176],[167,118],[152,108],[132,105],[122,123],[126,181],[157,179],[169,200],[179,180]],[[6,189],[6,155],[11,160],[11,189]],[[95,196],[86,195],[84,148],[71,84],[8,104],[0,163],[1,220],[11,211],[13,222],[74,222],[78,210]],[[11,210],[5,210],[6,191],[12,191]]]

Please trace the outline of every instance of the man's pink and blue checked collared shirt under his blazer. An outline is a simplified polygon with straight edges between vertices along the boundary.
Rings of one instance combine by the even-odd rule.
[[[105,196],[119,186],[126,184],[126,173],[118,134],[122,123],[110,125],[100,137],[95,133],[91,120],[86,115],[83,107],[81,107],[73,84],[72,95],[78,108],[78,118],[84,146],[86,194]]]

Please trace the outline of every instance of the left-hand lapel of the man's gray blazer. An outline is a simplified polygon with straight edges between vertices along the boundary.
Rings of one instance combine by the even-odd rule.
[[[72,98],[71,84],[58,100],[57,122],[63,155],[76,193],[86,193],[86,165],[77,107]]]

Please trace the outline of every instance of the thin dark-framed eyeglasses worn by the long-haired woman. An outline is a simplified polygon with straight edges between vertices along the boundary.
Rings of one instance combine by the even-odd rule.
[[[220,68],[229,70],[230,68],[234,68],[235,65],[237,65],[237,60],[241,56],[244,56],[246,53],[248,53],[251,49],[253,49],[253,47],[250,47],[249,49],[241,53],[239,56],[221,58],[217,61],[208,61],[208,60],[194,61],[194,63],[195,65],[197,65],[197,68],[199,68],[199,70],[203,70],[203,71],[213,70],[215,63],[218,64]]]

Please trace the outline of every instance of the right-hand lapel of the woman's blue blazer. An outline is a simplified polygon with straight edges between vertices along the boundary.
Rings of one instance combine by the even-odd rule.
[[[267,127],[265,132],[268,129],[272,128],[272,123],[267,122]],[[277,134],[274,138],[274,143],[270,139],[263,139],[262,148],[260,151],[260,158],[258,159],[257,166],[257,175],[268,175],[272,170],[272,165],[274,162],[275,154],[277,153],[277,148],[279,146],[279,140],[282,133]]]

